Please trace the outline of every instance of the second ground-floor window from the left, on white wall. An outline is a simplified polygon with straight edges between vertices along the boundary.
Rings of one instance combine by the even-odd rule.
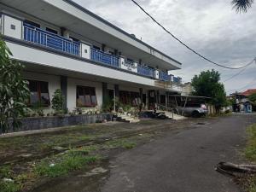
[[[77,86],[77,106],[95,107],[97,105],[95,87]]]

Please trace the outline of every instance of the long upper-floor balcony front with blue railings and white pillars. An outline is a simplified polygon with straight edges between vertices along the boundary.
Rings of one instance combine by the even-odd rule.
[[[12,18],[9,22],[13,22],[13,20],[15,20],[15,18]],[[148,67],[145,64],[139,64],[137,61],[125,60],[122,56],[110,55],[102,50],[93,49],[88,44],[73,41],[70,38],[65,38],[52,32],[47,32],[41,28],[22,22],[21,20],[15,20],[15,22],[20,22],[19,27],[21,27],[21,29],[18,30],[17,28],[14,33],[9,33],[7,30],[8,28],[4,27],[2,31],[3,35],[12,38],[19,38],[20,40],[24,40],[32,44],[38,44],[49,49],[55,49],[69,55],[76,55],[84,59],[96,61],[102,64],[102,66],[122,69],[123,71],[138,74],[145,78],[180,84],[180,79],[175,77],[171,78],[171,76],[165,72],[160,71],[160,73],[158,73],[158,70],[153,67]],[[15,23],[15,25],[17,24]]]

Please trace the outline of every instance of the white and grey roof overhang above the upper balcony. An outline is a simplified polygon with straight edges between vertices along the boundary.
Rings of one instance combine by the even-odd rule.
[[[3,5],[37,17],[55,26],[90,37],[96,42],[119,49],[124,55],[163,70],[180,69],[181,63],[145,44],[71,0],[2,0]]]

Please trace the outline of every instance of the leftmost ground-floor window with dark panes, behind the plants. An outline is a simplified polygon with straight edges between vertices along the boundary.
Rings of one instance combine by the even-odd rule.
[[[30,106],[49,107],[48,82],[28,80],[31,92],[28,104]]]

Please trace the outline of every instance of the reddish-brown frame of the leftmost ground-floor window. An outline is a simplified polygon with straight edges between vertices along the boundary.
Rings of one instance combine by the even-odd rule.
[[[37,84],[37,90],[38,90],[38,103],[40,104],[40,107],[44,107],[44,108],[49,108],[50,106],[50,97],[49,97],[49,82],[47,81],[39,81],[39,80],[32,80],[32,79],[27,79],[27,81],[29,82],[29,91],[30,91],[30,96],[29,96],[29,99],[27,101],[27,106],[29,107],[33,107],[34,103],[31,102],[31,94],[32,94],[32,91],[30,89],[30,83],[31,82],[35,82]],[[46,104],[43,104],[42,102],[42,97],[41,97],[41,94],[42,94],[42,89],[41,89],[41,86],[42,86],[42,83],[44,84],[47,84],[47,93],[48,94],[48,97],[49,97],[49,101],[48,103]]]

